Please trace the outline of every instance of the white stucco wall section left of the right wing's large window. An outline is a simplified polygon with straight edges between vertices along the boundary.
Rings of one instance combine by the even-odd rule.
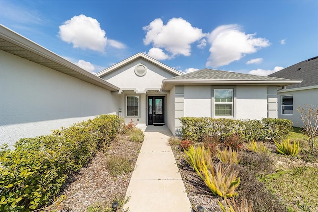
[[[184,86],[184,116],[211,117],[211,86]]]

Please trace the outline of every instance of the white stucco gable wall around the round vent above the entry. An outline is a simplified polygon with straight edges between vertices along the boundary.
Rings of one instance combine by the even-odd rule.
[[[135,66],[139,63],[147,67],[147,73],[144,76],[137,76],[135,74]],[[137,91],[144,91],[145,89],[161,88],[162,80],[175,77],[176,75],[162,70],[158,66],[149,63],[143,59],[137,59],[119,69],[103,76],[102,78],[107,82],[125,90],[137,89]]]

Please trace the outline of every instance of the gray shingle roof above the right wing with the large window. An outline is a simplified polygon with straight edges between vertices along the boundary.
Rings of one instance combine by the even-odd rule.
[[[282,80],[282,78],[241,74],[214,69],[201,69],[171,79],[180,80]]]

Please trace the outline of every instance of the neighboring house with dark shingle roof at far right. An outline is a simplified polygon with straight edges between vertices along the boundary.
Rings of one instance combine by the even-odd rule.
[[[303,80],[300,84],[280,87],[278,90],[278,117],[289,119],[294,126],[302,127],[298,107],[310,104],[318,106],[318,56],[268,76]]]

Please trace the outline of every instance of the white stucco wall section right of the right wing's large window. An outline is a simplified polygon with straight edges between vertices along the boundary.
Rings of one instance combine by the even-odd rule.
[[[267,86],[236,87],[236,118],[267,118]]]

